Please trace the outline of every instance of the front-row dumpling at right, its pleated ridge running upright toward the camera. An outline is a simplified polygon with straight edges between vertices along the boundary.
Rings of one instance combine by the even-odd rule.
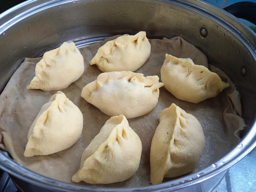
[[[198,120],[174,103],[160,113],[159,119],[150,151],[152,184],[161,183],[163,177],[177,177],[193,171],[205,145]]]

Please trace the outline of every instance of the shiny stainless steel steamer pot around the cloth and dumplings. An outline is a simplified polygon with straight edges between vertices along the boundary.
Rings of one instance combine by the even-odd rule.
[[[207,55],[241,93],[247,124],[241,141],[200,172],[123,191],[210,191],[256,146],[256,35],[228,12],[199,0],[28,0],[0,15],[0,91],[23,61],[73,41],[82,47],[117,34],[146,31],[148,38],[181,36]],[[41,55],[40,55],[41,54]],[[38,175],[0,152],[0,168],[24,191],[120,191],[64,183]]]

